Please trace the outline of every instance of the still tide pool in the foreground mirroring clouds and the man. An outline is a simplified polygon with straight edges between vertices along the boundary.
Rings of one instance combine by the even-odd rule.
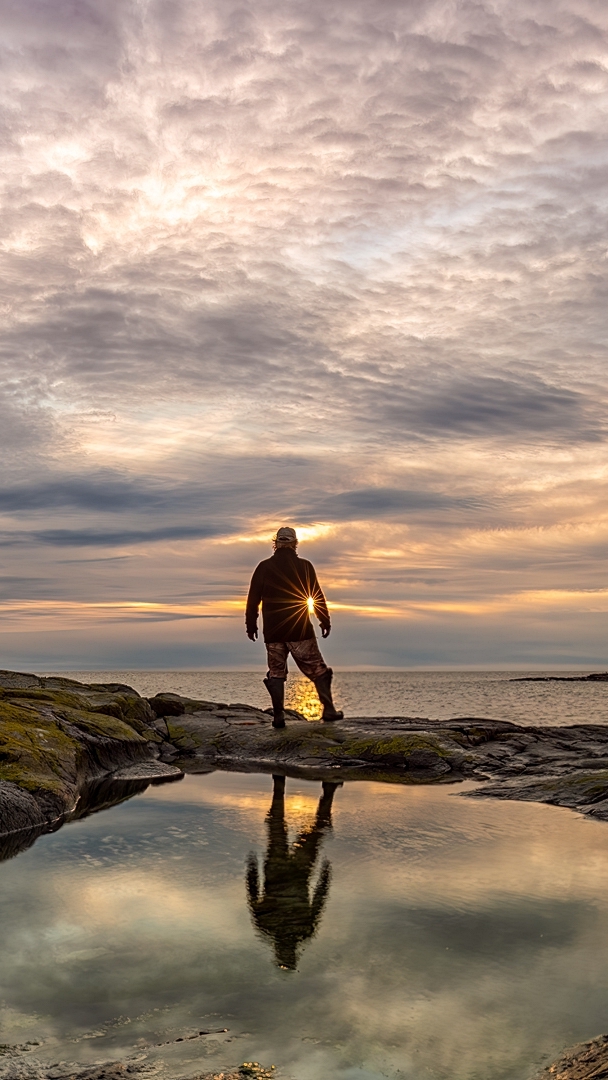
[[[42,1044],[0,1076],[526,1080],[606,1031],[608,826],[458,792],[189,775],[41,837],[0,865],[0,1041]]]

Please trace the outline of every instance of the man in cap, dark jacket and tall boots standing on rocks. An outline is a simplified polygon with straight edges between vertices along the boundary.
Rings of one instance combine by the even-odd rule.
[[[245,615],[247,637],[255,642],[261,604],[268,653],[268,675],[264,683],[272,700],[272,726],[285,727],[285,679],[289,652],[302,674],[314,683],[323,705],[323,719],[341,720],[343,713],[334,707],[332,699],[334,673],[321,656],[310,621],[310,613],[314,612],[323,637],[329,635],[329,612],[314,567],[306,558],[298,557],[295,529],[279,529],[273,544],[274,554],[254,570]]]

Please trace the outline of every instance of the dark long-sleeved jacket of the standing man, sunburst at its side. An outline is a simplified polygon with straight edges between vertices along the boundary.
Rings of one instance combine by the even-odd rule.
[[[292,548],[278,548],[270,558],[254,570],[245,622],[247,634],[257,630],[261,604],[265,642],[301,642],[314,637],[309,618],[308,598],[314,600],[314,613],[323,630],[329,626],[329,612],[312,563],[299,558]]]

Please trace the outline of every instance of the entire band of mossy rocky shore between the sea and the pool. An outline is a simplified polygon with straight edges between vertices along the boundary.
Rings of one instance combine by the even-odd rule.
[[[479,782],[472,797],[548,802],[608,821],[608,725],[533,727],[477,717],[353,717],[122,684],[0,672],[0,858],[37,835],[185,772],[281,772],[397,783]],[[11,839],[12,837],[12,839]]]

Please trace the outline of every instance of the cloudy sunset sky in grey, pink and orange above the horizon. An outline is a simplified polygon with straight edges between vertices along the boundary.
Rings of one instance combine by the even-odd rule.
[[[605,0],[4,0],[0,665],[606,665]]]

